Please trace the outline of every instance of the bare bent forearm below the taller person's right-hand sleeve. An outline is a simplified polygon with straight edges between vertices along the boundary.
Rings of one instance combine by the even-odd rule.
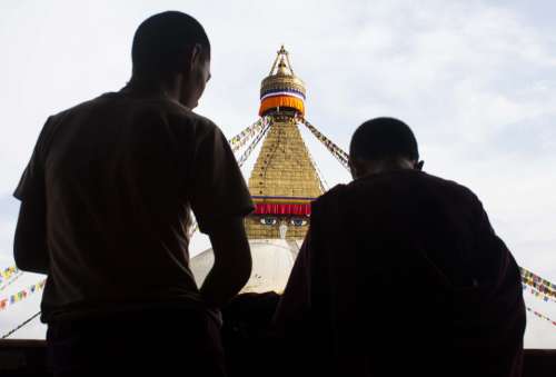
[[[210,232],[215,264],[200,289],[209,307],[226,305],[251,274],[251,254],[241,217],[222,220]]]

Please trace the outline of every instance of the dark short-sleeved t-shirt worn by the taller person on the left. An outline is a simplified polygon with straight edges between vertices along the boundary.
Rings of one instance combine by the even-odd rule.
[[[50,117],[14,196],[46,202],[42,319],[199,306],[199,229],[252,210],[220,129],[162,96],[103,95]]]

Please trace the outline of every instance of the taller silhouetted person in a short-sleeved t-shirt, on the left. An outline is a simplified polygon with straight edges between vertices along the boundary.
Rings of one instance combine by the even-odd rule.
[[[191,111],[210,78],[210,43],[180,12],[150,17],[133,72],[48,119],[14,196],[14,257],[47,274],[42,321],[57,376],[222,376],[219,308],[247,281],[250,195],[234,153]],[[189,269],[190,210],[215,265]]]

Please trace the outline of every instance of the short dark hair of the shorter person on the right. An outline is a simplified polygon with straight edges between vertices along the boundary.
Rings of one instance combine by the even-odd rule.
[[[349,155],[359,160],[419,159],[414,132],[395,118],[375,118],[359,126],[351,137]]]

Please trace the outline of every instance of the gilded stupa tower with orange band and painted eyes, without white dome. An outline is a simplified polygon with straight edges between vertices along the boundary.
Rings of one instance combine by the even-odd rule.
[[[298,128],[305,99],[305,83],[281,47],[260,89],[259,116],[267,117],[269,126],[249,178],[256,205],[246,219],[249,239],[302,239],[310,202],[324,192]]]

